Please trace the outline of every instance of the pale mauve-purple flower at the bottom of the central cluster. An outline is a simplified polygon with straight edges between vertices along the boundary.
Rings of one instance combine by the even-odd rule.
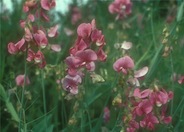
[[[62,81],[62,86],[64,90],[72,93],[77,94],[78,93],[78,85],[82,82],[82,79],[79,75],[76,75],[74,77],[67,75]]]

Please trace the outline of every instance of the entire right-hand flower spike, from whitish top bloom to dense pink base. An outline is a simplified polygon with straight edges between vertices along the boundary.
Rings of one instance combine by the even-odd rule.
[[[130,45],[123,43],[121,47],[130,47]],[[124,80],[126,83],[123,83],[123,86],[128,88],[125,91],[127,91],[126,97],[128,96],[129,98],[123,102],[121,94],[118,94],[114,98],[113,104],[128,108],[128,110],[124,110],[126,115],[123,118],[127,132],[134,132],[140,128],[153,130],[155,124],[169,124],[171,122],[172,117],[166,116],[166,104],[173,98],[173,93],[171,91],[166,92],[158,87],[155,87],[154,90],[149,88],[140,90],[139,88],[139,80],[147,74],[148,67],[133,71],[133,59],[128,55],[124,55],[124,57],[115,61],[113,68],[126,76]]]

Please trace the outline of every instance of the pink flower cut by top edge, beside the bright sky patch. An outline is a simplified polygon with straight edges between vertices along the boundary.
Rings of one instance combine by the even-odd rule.
[[[45,10],[50,10],[51,8],[56,6],[55,0],[41,0],[41,7]]]

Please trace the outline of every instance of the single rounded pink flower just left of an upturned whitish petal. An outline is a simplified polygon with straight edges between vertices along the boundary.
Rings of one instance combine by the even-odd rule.
[[[124,56],[118,59],[114,64],[113,68],[115,71],[122,71],[124,74],[127,74],[127,70],[132,69],[134,67],[134,62],[129,56]]]

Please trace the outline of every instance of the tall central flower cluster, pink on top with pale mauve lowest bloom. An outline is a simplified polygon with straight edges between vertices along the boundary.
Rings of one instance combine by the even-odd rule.
[[[105,61],[107,57],[103,51],[104,35],[96,28],[95,20],[80,24],[77,34],[78,38],[70,48],[70,56],[65,60],[68,75],[63,79],[63,88],[72,94],[78,93],[78,84],[81,83],[83,76],[82,70],[94,71],[95,61]],[[91,49],[92,46],[97,47],[97,50]]]

